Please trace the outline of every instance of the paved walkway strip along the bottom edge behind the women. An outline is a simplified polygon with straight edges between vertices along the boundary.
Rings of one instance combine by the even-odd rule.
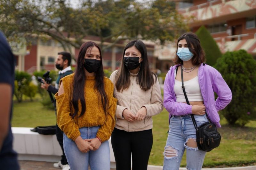
[[[58,170],[52,166],[53,162],[19,160],[21,170]],[[148,166],[148,170],[162,170],[163,166]],[[59,169],[60,170],[60,169]],[[110,169],[115,170],[115,169]],[[186,168],[180,168],[186,170]],[[230,167],[230,168],[203,168],[202,170],[256,170],[256,166]]]

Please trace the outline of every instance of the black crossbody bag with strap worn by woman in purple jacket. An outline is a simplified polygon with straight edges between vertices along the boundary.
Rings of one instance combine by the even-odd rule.
[[[186,102],[188,105],[188,97],[185,91],[184,82],[183,82],[183,71],[181,67],[181,82],[182,82],[182,90],[186,99]],[[205,114],[208,118],[208,115],[205,110]],[[206,122],[204,124],[201,124],[199,127],[197,127],[196,120],[193,114],[190,114],[193,124],[196,129],[196,143],[199,150],[210,152],[212,149],[218,147],[220,145],[220,133],[217,131],[217,127],[215,124],[212,124],[210,119],[208,118],[209,122]]]

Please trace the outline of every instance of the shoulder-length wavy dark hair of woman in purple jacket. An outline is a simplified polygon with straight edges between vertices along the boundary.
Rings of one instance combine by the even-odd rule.
[[[178,52],[178,44],[180,40],[186,39],[187,44],[188,44],[188,49],[191,53],[194,54],[192,60],[193,65],[199,65],[203,62],[205,62],[205,53],[204,50],[200,44],[200,40],[196,36],[196,34],[192,32],[187,32],[183,35],[180,36],[180,38],[177,41],[177,48],[176,48],[176,56],[173,60],[175,64],[183,64],[183,61],[180,59],[180,57],[177,55]]]

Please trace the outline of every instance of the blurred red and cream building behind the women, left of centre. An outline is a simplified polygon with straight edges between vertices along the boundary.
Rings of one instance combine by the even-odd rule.
[[[94,41],[95,43],[100,44],[99,38],[96,36],[88,36],[84,39],[84,42],[86,41]],[[120,67],[123,50],[127,43],[128,41],[119,42],[104,51],[102,54],[104,69],[111,69],[114,71]],[[108,44],[108,42],[104,43],[106,46]],[[151,69],[154,69],[154,62],[156,61],[156,57],[153,56],[154,44],[146,41],[145,44],[148,50],[149,66]],[[16,69],[33,74],[35,71],[56,70],[55,60],[57,54],[64,50],[59,42],[50,38],[47,40],[33,38],[31,45],[27,46],[27,51],[25,50],[25,53],[23,52],[21,54],[18,51],[20,50],[16,50],[16,52],[13,51],[16,57]],[[71,54],[75,59],[77,59],[78,53],[79,49],[71,47]],[[76,61],[72,60],[71,65],[76,66]]]

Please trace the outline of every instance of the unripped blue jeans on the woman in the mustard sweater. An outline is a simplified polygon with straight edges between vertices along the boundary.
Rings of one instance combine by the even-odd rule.
[[[83,127],[79,131],[83,139],[96,138],[100,126]],[[79,151],[76,143],[64,134],[64,151],[68,159],[71,170],[88,170],[90,164],[91,170],[109,170],[110,169],[110,151],[108,140],[100,145],[96,151],[83,153]]]

